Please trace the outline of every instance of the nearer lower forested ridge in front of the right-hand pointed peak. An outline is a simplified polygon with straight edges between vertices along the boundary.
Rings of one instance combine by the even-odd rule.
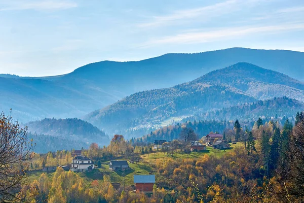
[[[162,121],[181,115],[196,114],[252,102],[255,99],[235,88],[224,85],[178,85],[167,89],[138,92],[116,104],[89,114],[85,120],[106,126],[108,133],[122,133],[130,128],[158,127]],[[110,131],[115,129],[116,131]]]

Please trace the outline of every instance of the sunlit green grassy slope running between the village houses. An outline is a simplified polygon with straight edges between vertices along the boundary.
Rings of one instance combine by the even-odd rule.
[[[204,152],[192,152],[190,155],[184,153],[184,152],[176,152],[174,153],[173,157],[168,156],[167,154],[165,155],[163,152],[158,151],[155,154],[150,153],[150,154],[144,154],[142,155],[142,160],[138,164],[135,163],[129,163],[131,170],[126,171],[126,172],[120,172],[120,171],[110,171],[109,170],[109,162],[103,162],[102,163],[102,168],[98,168],[96,170],[93,170],[92,172],[86,172],[86,173],[79,173],[79,175],[84,178],[84,182],[87,186],[90,185],[90,183],[93,180],[98,180],[98,181],[103,181],[103,175],[109,177],[109,180],[111,183],[120,183],[124,184],[124,179],[125,179],[125,185],[130,186],[134,185],[133,183],[133,175],[148,175],[149,173],[155,174],[156,170],[153,168],[153,164],[156,163],[156,160],[161,159],[161,160],[166,160],[169,158],[173,159],[185,159],[185,158],[194,158],[194,159],[200,159],[202,158],[205,154],[208,155],[215,155],[215,156],[222,156],[224,153],[232,151],[236,146],[244,146],[244,143],[237,143],[236,145],[231,145],[231,149],[226,149],[226,150],[217,150],[213,149],[211,147],[207,147],[207,150]],[[42,172],[30,172],[29,173],[29,179],[31,181],[33,180],[39,180],[40,175]],[[54,175],[54,173],[48,173],[47,174],[50,181]]]

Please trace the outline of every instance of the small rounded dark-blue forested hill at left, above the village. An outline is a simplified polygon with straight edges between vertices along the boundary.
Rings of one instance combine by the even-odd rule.
[[[32,121],[25,124],[28,126],[28,131],[34,134],[44,134],[48,136],[46,141],[51,143],[54,140],[74,140],[79,142],[78,145],[74,146],[73,142],[66,143],[65,146],[68,149],[73,149],[75,147],[79,147],[83,145],[83,143],[87,143],[86,146],[90,143],[98,143],[101,146],[107,145],[109,143],[108,136],[98,129],[97,127],[93,126],[91,123],[83,121],[81,119],[72,118],[72,119],[50,119],[45,118],[40,121]],[[36,136],[36,138],[39,136]],[[50,141],[51,137],[53,141]],[[42,138],[41,138],[42,139]],[[40,140],[41,140],[40,139]],[[54,142],[56,143],[56,142]],[[58,144],[54,144],[57,145]],[[61,146],[59,144],[59,146]],[[48,146],[47,151],[50,151],[51,148],[55,148],[54,146]],[[83,146],[85,147],[85,146]],[[57,148],[58,149],[58,148]]]

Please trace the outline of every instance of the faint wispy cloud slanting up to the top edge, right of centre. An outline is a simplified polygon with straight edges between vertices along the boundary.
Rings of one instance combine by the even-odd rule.
[[[139,27],[151,27],[170,24],[174,21],[192,19],[200,17],[200,19],[209,19],[212,17],[225,15],[242,9],[244,6],[255,6],[261,0],[229,0],[210,6],[200,7],[196,9],[185,9],[175,11],[170,15],[154,16],[153,20],[138,24]]]

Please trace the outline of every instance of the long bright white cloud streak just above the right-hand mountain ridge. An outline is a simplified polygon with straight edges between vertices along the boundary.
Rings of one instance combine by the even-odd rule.
[[[198,31],[198,32],[186,32],[180,33],[175,36],[167,36],[160,39],[150,40],[141,44],[140,48],[153,47],[156,45],[164,44],[197,44],[207,43],[214,41],[229,40],[231,38],[237,38],[248,35],[255,35],[257,33],[276,33],[283,31],[304,30],[303,23],[294,24],[281,24],[281,25],[269,25],[269,26],[254,26],[254,27],[229,27],[216,29],[211,31]]]

